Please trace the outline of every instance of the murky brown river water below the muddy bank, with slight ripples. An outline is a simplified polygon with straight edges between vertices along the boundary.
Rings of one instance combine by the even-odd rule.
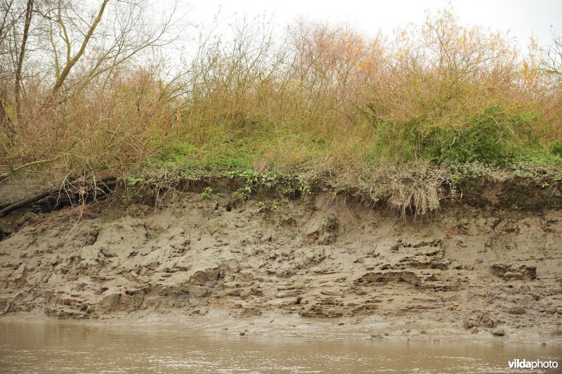
[[[514,359],[562,365],[562,347],[208,335],[166,323],[109,326],[0,318],[2,373],[506,373]]]

